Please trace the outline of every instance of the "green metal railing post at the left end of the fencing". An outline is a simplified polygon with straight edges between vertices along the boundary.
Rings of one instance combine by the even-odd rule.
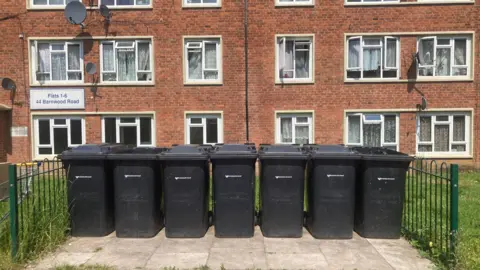
[[[12,259],[15,261],[18,252],[18,203],[17,203],[17,166],[8,166],[9,203],[10,203],[10,239]]]

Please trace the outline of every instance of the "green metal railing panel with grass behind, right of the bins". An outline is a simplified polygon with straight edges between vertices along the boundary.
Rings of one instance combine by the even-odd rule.
[[[451,265],[458,231],[458,165],[416,159],[407,171],[402,229],[434,259]]]

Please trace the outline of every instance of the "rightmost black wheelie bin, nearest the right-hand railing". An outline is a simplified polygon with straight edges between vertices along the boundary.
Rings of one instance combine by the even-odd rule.
[[[355,231],[366,238],[400,238],[405,177],[413,157],[387,148],[357,147]]]

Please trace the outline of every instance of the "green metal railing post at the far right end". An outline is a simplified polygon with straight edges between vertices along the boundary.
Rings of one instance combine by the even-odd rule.
[[[458,165],[450,165],[450,250],[455,253],[458,232]]]

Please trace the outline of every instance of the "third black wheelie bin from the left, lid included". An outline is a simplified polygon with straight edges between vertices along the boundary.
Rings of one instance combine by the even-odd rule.
[[[200,238],[208,230],[209,148],[178,145],[159,155],[164,160],[166,237]]]

